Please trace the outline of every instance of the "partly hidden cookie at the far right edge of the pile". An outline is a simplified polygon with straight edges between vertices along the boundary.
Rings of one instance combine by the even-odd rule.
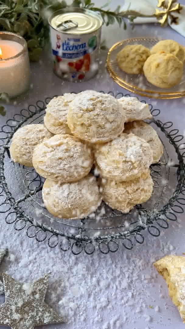
[[[163,145],[152,126],[144,121],[133,121],[128,122],[125,125],[124,133],[134,135],[143,138],[149,143],[151,150],[153,152],[153,162],[159,162],[161,156],[163,155]]]

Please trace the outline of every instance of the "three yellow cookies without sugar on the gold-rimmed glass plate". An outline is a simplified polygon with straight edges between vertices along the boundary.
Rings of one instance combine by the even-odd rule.
[[[161,40],[151,49],[141,44],[127,45],[118,52],[116,61],[122,71],[144,73],[152,85],[168,89],[182,79],[185,48],[174,40]]]

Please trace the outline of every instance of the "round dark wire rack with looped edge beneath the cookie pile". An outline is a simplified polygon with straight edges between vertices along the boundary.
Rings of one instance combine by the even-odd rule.
[[[113,92],[109,93],[114,95]],[[123,93],[118,93],[115,97],[123,97]],[[134,243],[143,243],[144,229],[154,237],[159,236],[160,228],[167,229],[169,222],[177,219],[176,214],[183,213],[183,136],[178,134],[178,129],[173,129],[172,122],[162,123],[158,119],[160,110],[149,105],[153,115],[150,124],[157,130],[164,146],[160,163],[151,165],[154,190],[150,200],[137,205],[127,215],[109,208],[102,202],[94,216],[81,220],[53,217],[42,202],[44,179],[34,168],[10,161],[9,152],[14,132],[25,124],[42,123],[45,106],[50,100],[51,98],[46,98],[45,101],[37,101],[36,105],[21,110],[20,114],[15,114],[0,131],[0,212],[5,214],[7,224],[13,224],[15,230],[25,228],[29,238],[36,238],[39,242],[46,240],[51,248],[59,246],[63,251],[71,249],[75,255],[82,251],[92,254],[98,248],[107,254],[116,252],[119,245],[132,249]]]

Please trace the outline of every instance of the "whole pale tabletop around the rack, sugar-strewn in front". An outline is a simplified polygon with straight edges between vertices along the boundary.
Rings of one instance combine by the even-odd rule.
[[[185,1],[181,1],[185,4]],[[96,1],[101,5],[104,1]],[[112,2],[115,8],[120,1]],[[117,25],[104,27],[102,39],[111,46],[116,41],[132,37],[156,37],[174,39],[185,46],[185,38],[170,27],[137,25],[127,31]],[[114,83],[106,70],[98,77],[84,83],[62,82],[52,71],[48,52],[39,63],[31,64],[32,89],[16,103],[6,106],[6,116],[0,117],[3,125],[13,114],[37,100],[55,94],[85,89],[113,90],[127,93]],[[139,99],[143,97],[139,96]],[[161,110],[160,119],[173,121],[180,133],[185,133],[185,101],[147,99],[154,108]],[[12,182],[13,184],[13,182]],[[65,324],[48,326],[63,329],[179,329],[184,324],[167,293],[165,281],[152,263],[170,253],[185,252],[184,215],[171,222],[167,230],[161,230],[158,238],[145,232],[145,242],[129,251],[120,246],[116,253],[103,255],[98,250],[91,256],[82,252],[74,256],[70,251],[51,249],[46,242],[38,243],[26,236],[26,232],[15,231],[13,225],[0,221],[0,247],[8,246],[9,257],[1,264],[0,271],[7,272],[22,282],[31,282],[51,272],[47,302],[66,320]],[[3,297],[0,299],[3,302]],[[40,327],[40,328],[46,328]],[[5,327],[2,327],[5,328]]]

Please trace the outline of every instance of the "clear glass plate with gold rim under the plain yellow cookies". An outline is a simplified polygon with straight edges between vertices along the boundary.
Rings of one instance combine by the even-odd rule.
[[[158,41],[159,40],[156,38],[134,38],[115,43],[108,51],[107,70],[119,86],[139,95],[166,99],[183,97],[185,96],[185,70],[182,80],[178,85],[169,89],[163,89],[150,84],[144,74],[127,74],[119,68],[116,62],[116,56],[124,46],[142,44],[151,49],[151,47],[153,47]]]

